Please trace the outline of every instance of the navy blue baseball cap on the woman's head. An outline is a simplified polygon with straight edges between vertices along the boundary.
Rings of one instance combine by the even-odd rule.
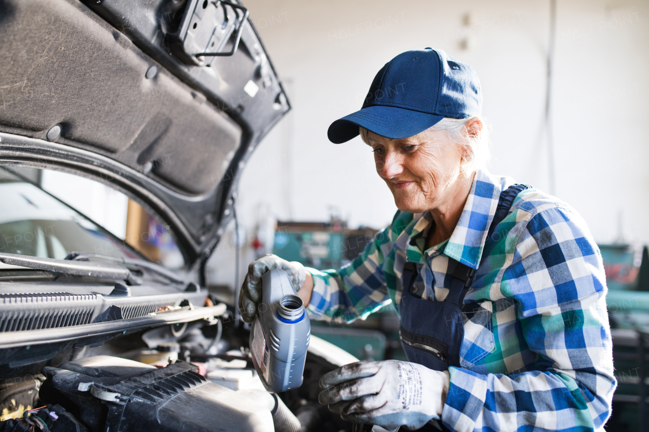
[[[444,117],[466,119],[481,112],[480,81],[471,66],[441,49],[406,51],[378,71],[360,111],[334,121],[327,136],[344,143],[363,126],[386,138],[408,138]]]

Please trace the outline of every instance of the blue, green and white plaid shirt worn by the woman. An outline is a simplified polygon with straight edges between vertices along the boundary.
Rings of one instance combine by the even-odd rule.
[[[510,178],[478,171],[458,225],[426,249],[430,212],[397,211],[361,256],[313,274],[312,318],[350,321],[398,304],[406,261],[424,263],[413,285],[443,301],[448,258],[476,269],[463,314],[461,367],[451,367],[442,421],[455,431],[594,430],[617,385],[600,251],[567,204],[528,189],[487,239]],[[425,319],[425,317],[422,317]]]

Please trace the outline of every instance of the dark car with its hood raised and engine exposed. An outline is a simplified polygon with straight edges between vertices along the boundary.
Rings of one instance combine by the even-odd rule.
[[[195,366],[220,356],[249,367],[232,305],[206,301],[205,265],[241,170],[289,110],[245,7],[5,1],[0,58],[0,420],[24,415],[53,431],[269,430],[270,409]],[[183,268],[148,261],[25,169],[121,191],[165,224]],[[127,360],[161,341],[182,342],[186,361]],[[349,356],[311,343],[305,385],[282,399],[303,430],[349,429],[316,402],[319,376]],[[49,405],[25,411],[36,403]]]

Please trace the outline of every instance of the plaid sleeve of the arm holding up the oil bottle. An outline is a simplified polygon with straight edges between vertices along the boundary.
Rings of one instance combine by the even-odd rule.
[[[393,241],[404,228],[401,214],[397,211],[392,224],[376,234],[363,253],[339,271],[306,269],[313,276],[308,306],[311,318],[336,322],[365,319],[390,302],[387,287],[389,283],[393,286],[395,279],[390,256]]]

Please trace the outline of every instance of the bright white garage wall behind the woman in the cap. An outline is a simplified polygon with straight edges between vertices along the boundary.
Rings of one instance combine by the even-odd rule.
[[[353,226],[380,228],[395,206],[355,138],[326,130],[358,110],[374,75],[409,49],[444,49],[480,77],[493,130],[492,173],[548,191],[543,132],[549,1],[246,0],[293,111],[265,138],[241,179],[239,214],[324,221],[336,205]],[[465,25],[469,14],[469,25]],[[649,3],[558,0],[552,93],[556,195],[601,243],[649,243]],[[469,42],[469,49],[461,44]],[[247,258],[245,258],[247,259]],[[247,262],[246,262],[247,264]]]

